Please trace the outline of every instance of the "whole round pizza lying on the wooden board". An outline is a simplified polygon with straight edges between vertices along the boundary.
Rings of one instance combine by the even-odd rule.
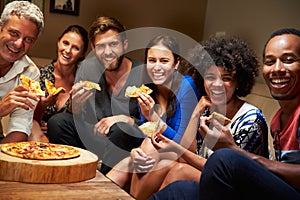
[[[45,142],[15,142],[1,145],[1,151],[19,158],[33,160],[60,160],[80,156],[72,146]]]

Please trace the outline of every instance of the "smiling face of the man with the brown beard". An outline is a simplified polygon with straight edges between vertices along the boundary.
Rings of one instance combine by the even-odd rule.
[[[121,65],[127,48],[127,40],[122,42],[121,36],[114,30],[95,36],[94,45],[99,61],[106,70],[114,71]]]

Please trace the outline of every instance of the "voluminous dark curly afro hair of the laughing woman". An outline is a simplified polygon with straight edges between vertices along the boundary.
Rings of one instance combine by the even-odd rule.
[[[236,71],[236,95],[245,97],[258,76],[259,62],[255,52],[236,36],[210,37],[192,49],[187,60],[203,75],[211,66],[222,66],[226,71]]]

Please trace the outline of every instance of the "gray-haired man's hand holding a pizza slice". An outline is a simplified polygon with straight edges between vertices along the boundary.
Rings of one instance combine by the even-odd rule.
[[[34,109],[35,104],[30,99],[36,102],[39,101],[39,98],[24,86],[15,87],[0,101],[0,116],[8,115],[15,108]]]

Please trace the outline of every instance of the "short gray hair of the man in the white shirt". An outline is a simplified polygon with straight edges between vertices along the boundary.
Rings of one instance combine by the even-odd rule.
[[[23,17],[35,23],[38,27],[39,34],[44,29],[44,15],[37,5],[29,1],[12,1],[3,9],[1,14],[2,27],[9,21],[11,15]]]

